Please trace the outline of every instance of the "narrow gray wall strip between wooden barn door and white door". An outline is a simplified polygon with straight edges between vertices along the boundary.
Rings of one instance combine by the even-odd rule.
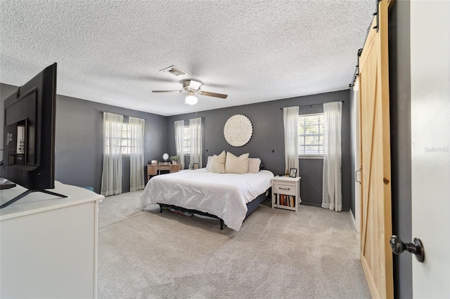
[[[392,234],[405,242],[412,240],[409,10],[409,1],[394,1],[389,15]],[[413,297],[411,255],[394,255],[394,297]]]

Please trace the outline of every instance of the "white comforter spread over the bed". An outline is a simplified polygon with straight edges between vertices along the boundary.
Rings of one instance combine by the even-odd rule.
[[[156,175],[141,196],[143,207],[172,204],[217,215],[227,227],[239,231],[246,204],[271,187],[271,171],[212,173],[206,168]]]

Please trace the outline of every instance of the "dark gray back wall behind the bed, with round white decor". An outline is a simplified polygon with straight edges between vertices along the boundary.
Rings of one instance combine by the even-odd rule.
[[[214,99],[203,98],[203,100]],[[283,110],[281,108],[335,101],[345,101],[342,103],[342,206],[345,211],[349,211],[351,199],[349,90],[169,117],[167,121],[168,153],[175,154],[174,121],[184,119],[187,125],[188,119],[202,117],[203,166],[206,166],[208,156],[220,154],[222,150],[226,150],[236,155],[248,152],[250,157],[260,158],[266,169],[275,174],[284,173]],[[301,107],[299,113],[316,112],[323,112],[323,106]],[[233,147],[224,138],[224,124],[234,114],[243,114],[252,121],[252,138],[243,147]],[[322,159],[300,159],[300,176],[302,177],[300,196],[303,204],[321,206],[322,171]]]

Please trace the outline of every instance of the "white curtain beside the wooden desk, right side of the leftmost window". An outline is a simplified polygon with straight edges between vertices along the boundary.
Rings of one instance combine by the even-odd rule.
[[[129,191],[143,189],[143,128],[145,119],[129,117],[131,153],[129,154]],[[136,150],[136,152],[133,152]]]

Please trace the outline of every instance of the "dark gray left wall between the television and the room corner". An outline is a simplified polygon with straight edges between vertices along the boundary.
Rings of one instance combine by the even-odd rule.
[[[15,91],[16,87],[6,84],[1,84],[0,87],[3,104],[4,98]],[[3,109],[1,111],[3,112]],[[94,187],[95,192],[101,192],[103,111],[146,119],[144,162],[161,159],[162,154],[167,150],[167,117],[57,95],[56,180],[80,187],[91,186]],[[3,113],[1,116],[3,117]],[[129,157],[122,158],[122,162],[122,192],[127,192],[129,191]],[[142,167],[146,173],[146,166]]]

